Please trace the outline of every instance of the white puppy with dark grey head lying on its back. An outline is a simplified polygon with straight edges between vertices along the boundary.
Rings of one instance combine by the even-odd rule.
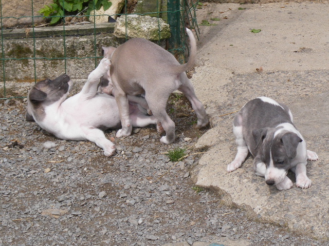
[[[109,59],[103,58],[89,74],[81,92],[69,98],[67,96],[73,83],[68,75],[39,81],[28,93],[26,119],[35,121],[58,138],[89,140],[102,148],[106,156],[113,155],[115,145],[100,129],[120,127],[118,106],[114,96],[97,93],[99,80],[110,65]],[[129,114],[134,127],[157,123],[154,116],[145,115],[136,104],[130,104]]]

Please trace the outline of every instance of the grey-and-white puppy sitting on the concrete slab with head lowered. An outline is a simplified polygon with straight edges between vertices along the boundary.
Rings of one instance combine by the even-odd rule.
[[[253,169],[265,176],[267,185],[278,190],[293,187],[286,176],[290,169],[296,174],[296,185],[309,188],[312,181],[306,175],[307,160],[318,160],[318,155],[306,150],[306,142],[293,124],[293,115],[287,106],[268,97],[249,101],[233,120],[237,153],[227,166],[232,172],[240,168],[248,152],[252,154]]]

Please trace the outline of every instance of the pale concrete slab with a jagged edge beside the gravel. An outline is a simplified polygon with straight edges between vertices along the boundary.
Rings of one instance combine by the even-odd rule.
[[[327,3],[204,4],[198,64],[193,75],[198,97],[207,107],[212,129],[196,147],[210,146],[195,171],[198,186],[216,189],[223,202],[246,209],[255,220],[269,221],[303,235],[329,238],[328,75],[329,5]],[[239,10],[239,8],[245,8]],[[218,17],[220,21],[210,18]],[[250,29],[261,29],[251,33]],[[258,70],[256,70],[258,69]],[[235,156],[232,119],[248,100],[269,96],[290,106],[308,149],[313,186],[278,191],[254,174],[252,158],[226,172]],[[289,174],[293,182],[293,174]]]

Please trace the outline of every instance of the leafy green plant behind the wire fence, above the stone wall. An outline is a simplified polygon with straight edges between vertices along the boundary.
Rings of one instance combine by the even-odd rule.
[[[52,0],[52,4],[45,5],[44,8],[39,10],[40,14],[45,17],[51,17],[50,24],[56,24],[64,16],[64,13],[72,14],[81,12],[86,9],[86,15],[90,15],[90,12],[99,10],[102,6],[104,10],[111,7],[112,3],[108,0]]]

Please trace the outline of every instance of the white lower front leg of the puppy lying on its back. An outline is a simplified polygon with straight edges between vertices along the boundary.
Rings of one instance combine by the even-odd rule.
[[[111,156],[115,153],[116,147],[105,137],[105,134],[102,130],[97,128],[84,128],[83,133],[86,139],[90,142],[95,142],[95,144],[104,150],[105,156]]]

